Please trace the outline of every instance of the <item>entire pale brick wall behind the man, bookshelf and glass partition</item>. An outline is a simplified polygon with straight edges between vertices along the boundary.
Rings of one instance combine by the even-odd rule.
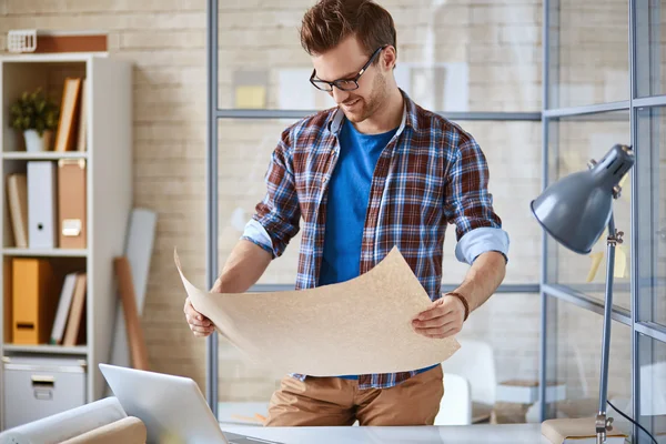
[[[269,69],[268,103],[273,108],[279,98],[278,69],[297,68],[309,74],[312,67],[300,48],[296,28],[304,9],[312,3],[312,0],[279,4],[274,0],[220,1],[221,107],[233,105],[232,82],[236,71]],[[398,64],[467,63],[471,111],[541,109],[541,1],[452,0],[441,7],[432,0],[381,3],[394,14],[398,27]],[[616,0],[613,4],[616,3],[624,2]],[[626,71],[626,44],[623,49],[622,41],[609,40],[609,48],[599,46],[606,41],[612,26],[626,27],[625,12],[614,7],[566,16],[573,23],[569,28],[587,27],[576,31],[576,38],[592,39],[598,44],[587,48],[575,42],[564,51],[563,61],[568,65],[559,70],[567,82],[562,88],[563,98],[573,98],[572,94],[582,90],[586,93],[589,90],[595,99],[616,97],[614,90],[617,82],[623,81],[622,73],[614,77],[604,72]],[[185,273],[203,287],[205,24],[204,0],[0,0],[0,48],[4,48],[9,29],[105,29],[110,32],[111,51],[134,62],[134,201],[137,205],[159,212],[143,319],[150,362],[155,371],[194,377],[202,387],[204,342],[193,339],[183,321],[184,292],[174,272],[172,252],[174,246],[179,249]],[[589,31],[597,27],[605,27],[604,32]],[[593,58],[597,53],[603,58],[601,61]],[[592,65],[581,64],[587,59],[595,61]],[[603,69],[599,70],[599,65]],[[310,88],[305,82],[306,78],[302,88]],[[323,101],[317,99],[316,103]],[[220,122],[221,264],[240,235],[240,225],[263,194],[269,155],[280,131],[289,123]],[[460,123],[486,153],[496,210],[512,236],[507,282],[537,282],[541,231],[529,214],[528,202],[541,189],[541,125],[535,122]],[[564,141],[581,131],[604,129],[576,125],[563,132],[562,138]],[[576,143],[591,147],[593,141],[585,139]],[[579,167],[576,163],[574,168]],[[453,258],[454,246],[454,232],[450,228],[444,245],[444,276],[451,283],[460,282],[466,271],[466,266]],[[293,284],[297,249],[296,239],[285,255],[269,268],[261,282]],[[567,276],[578,280],[586,260],[572,259]],[[498,294],[473,314],[461,336],[493,344],[498,380],[534,379],[538,374],[538,295]],[[585,316],[577,313],[568,316]],[[576,343],[579,337],[598,337],[601,330],[595,322],[601,317],[594,317],[594,322],[569,322],[569,317],[561,321],[561,331],[568,332],[566,341]],[[597,342],[585,343],[589,346],[584,354],[587,377],[594,377],[597,372],[594,357],[587,354]],[[620,345],[619,354],[624,356],[628,343]],[[568,366],[573,361],[568,354],[565,357],[558,375],[576,381],[577,373]],[[618,362],[614,356],[612,365]],[[268,400],[276,379],[278,375],[243,362],[239,353],[221,340],[221,400]]]

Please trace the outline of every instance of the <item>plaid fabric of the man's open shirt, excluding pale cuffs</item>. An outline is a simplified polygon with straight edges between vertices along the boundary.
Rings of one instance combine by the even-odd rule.
[[[460,240],[477,228],[501,228],[502,221],[493,211],[487,164],[476,141],[404,92],[403,97],[402,124],[382,152],[371,185],[360,271],[370,271],[396,245],[434,301],[442,296],[446,224],[456,225]],[[326,185],[340,153],[343,119],[342,111],[331,109],[283,131],[266,173],[266,194],[253,215],[272,240],[273,258],[303,230],[296,289],[312,289],[319,282]],[[415,374],[416,370],[360,375],[359,386],[390,387]]]

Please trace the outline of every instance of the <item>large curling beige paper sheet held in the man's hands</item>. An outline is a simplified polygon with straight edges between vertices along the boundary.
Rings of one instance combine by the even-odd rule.
[[[454,337],[430,339],[412,319],[431,305],[394,248],[370,272],[312,290],[225,294],[196,289],[174,260],[190,301],[248,359],[312,376],[393,373],[447,360]]]

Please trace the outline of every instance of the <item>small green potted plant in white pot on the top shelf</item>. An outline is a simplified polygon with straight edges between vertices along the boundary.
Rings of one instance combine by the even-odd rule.
[[[22,131],[26,151],[48,151],[58,128],[59,109],[38,88],[23,92],[9,110],[9,125]]]

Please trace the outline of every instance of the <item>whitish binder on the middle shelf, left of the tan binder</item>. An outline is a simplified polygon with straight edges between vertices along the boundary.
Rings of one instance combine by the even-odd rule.
[[[28,163],[28,241],[31,249],[57,248],[56,162]]]

